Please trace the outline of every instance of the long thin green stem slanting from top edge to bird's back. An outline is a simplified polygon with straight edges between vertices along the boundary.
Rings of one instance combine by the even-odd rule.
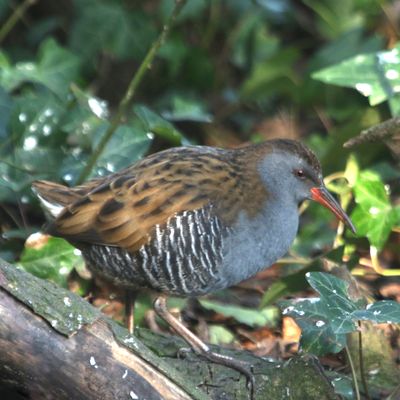
[[[120,124],[122,117],[125,115],[126,110],[128,109],[128,107],[133,99],[133,96],[136,93],[138,86],[142,82],[146,71],[151,68],[151,64],[152,64],[155,56],[157,55],[158,50],[163,45],[165,39],[168,36],[169,30],[170,30],[172,24],[174,23],[176,17],[179,15],[179,12],[181,11],[182,7],[186,4],[186,1],[187,0],[175,0],[175,7],[172,11],[172,14],[168,18],[167,22],[164,24],[163,29],[160,33],[160,36],[151,45],[149,51],[147,52],[142,63],[140,64],[138,70],[133,75],[133,78],[128,86],[128,89],[127,89],[124,97],[120,101],[117,112],[114,115],[114,117],[112,118],[109,127],[107,128],[106,132],[104,133],[104,135],[101,138],[97,147],[94,149],[93,154],[90,157],[86,167],[83,169],[83,171],[79,175],[79,178],[76,182],[77,185],[82,183],[92,172],[92,169],[93,169],[94,165],[96,164],[97,159],[100,157],[100,155],[103,152],[104,148],[106,147],[107,143],[112,138],[114,132],[118,128],[118,125]]]

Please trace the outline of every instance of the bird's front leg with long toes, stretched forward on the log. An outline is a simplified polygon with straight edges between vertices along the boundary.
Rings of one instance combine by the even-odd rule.
[[[200,340],[193,332],[186,328],[185,325],[183,325],[168,311],[167,298],[165,296],[161,295],[155,299],[154,310],[159,317],[161,317],[168,325],[170,325],[182,337],[182,339],[184,339],[190,345],[196,354],[206,358],[211,362],[224,365],[243,374],[247,379],[250,398],[254,398],[255,379],[249,363],[235,360],[234,358],[225,356],[223,354],[212,352],[207,344]]]

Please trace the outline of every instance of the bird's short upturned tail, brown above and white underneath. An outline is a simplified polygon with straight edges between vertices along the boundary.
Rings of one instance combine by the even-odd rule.
[[[49,181],[33,182],[32,190],[50,219],[57,218],[64,207],[82,197],[73,188]]]

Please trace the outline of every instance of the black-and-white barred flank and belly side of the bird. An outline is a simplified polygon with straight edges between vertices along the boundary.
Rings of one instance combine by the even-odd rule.
[[[212,207],[184,211],[157,225],[152,240],[131,254],[112,246],[82,250],[91,270],[116,284],[175,295],[202,295],[215,286],[228,228]]]

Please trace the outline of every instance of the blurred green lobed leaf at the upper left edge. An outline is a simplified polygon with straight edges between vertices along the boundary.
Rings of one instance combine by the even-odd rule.
[[[47,39],[39,49],[38,61],[19,62],[15,66],[0,62],[0,84],[12,91],[25,82],[40,83],[64,99],[70,83],[77,78],[78,57]]]

